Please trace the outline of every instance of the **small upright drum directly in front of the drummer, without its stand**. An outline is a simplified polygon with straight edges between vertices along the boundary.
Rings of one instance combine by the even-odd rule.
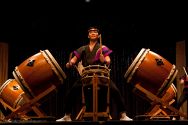
[[[96,76],[99,84],[106,84],[110,80],[110,69],[106,66],[89,65],[82,70],[82,83],[84,85],[92,84],[92,78]]]

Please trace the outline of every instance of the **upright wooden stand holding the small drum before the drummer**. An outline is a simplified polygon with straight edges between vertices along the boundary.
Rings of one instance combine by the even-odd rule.
[[[109,80],[108,80],[109,81]],[[107,119],[112,119],[110,115],[110,87],[109,83],[107,83],[107,108],[105,112],[98,112],[98,77],[96,74],[94,74],[92,78],[92,85],[93,85],[93,111],[92,112],[86,112],[86,105],[85,105],[85,96],[84,96],[84,84],[82,85],[82,104],[83,107],[78,113],[76,120],[83,120],[83,118],[86,117],[92,117],[93,121],[98,121],[99,117],[105,117]]]

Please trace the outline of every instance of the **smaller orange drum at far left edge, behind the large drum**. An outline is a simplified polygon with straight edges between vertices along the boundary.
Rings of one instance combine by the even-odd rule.
[[[0,87],[0,98],[11,108],[16,109],[24,104],[24,91],[15,79],[8,79]]]

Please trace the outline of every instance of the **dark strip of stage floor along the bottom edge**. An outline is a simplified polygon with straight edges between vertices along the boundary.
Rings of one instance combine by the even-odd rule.
[[[188,120],[133,120],[133,121],[71,121],[71,122],[56,122],[56,121],[11,121],[0,122],[1,125],[187,125]]]

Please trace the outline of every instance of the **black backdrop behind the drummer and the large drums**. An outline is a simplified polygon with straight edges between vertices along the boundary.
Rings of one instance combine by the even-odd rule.
[[[87,28],[96,25],[103,44],[113,50],[112,79],[126,101],[128,115],[135,117],[148,108],[145,100],[124,84],[123,75],[141,48],[163,56],[175,64],[176,42],[187,40],[186,7],[183,3],[128,3],[125,1],[84,0],[61,2],[3,3],[0,40],[9,44],[9,78],[15,66],[49,49],[70,78],[44,103],[45,111],[61,117],[63,97],[76,71],[67,71],[69,53],[87,43]],[[146,102],[147,103],[147,102]]]

